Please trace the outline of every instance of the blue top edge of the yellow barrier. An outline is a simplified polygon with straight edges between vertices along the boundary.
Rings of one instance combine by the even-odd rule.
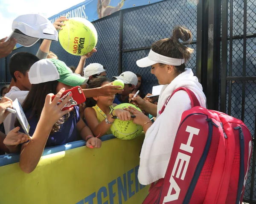
[[[113,135],[104,135],[100,139],[101,139],[101,141],[106,141],[106,140],[111,140],[113,138],[115,138],[115,136],[113,136]],[[62,152],[62,151],[66,151],[69,149],[74,149],[74,148],[82,147],[82,146],[85,146],[84,140],[74,141],[74,142],[62,144],[62,145],[59,145],[56,147],[46,147],[44,149],[42,156],[50,155],[50,154],[54,154],[57,152]],[[0,155],[0,167],[9,165],[9,164],[14,164],[19,161],[20,161],[20,154],[17,154],[17,153],[16,154],[8,154],[8,155]]]

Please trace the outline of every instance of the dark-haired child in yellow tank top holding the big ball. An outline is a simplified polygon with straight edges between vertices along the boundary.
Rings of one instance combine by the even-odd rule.
[[[98,88],[110,82],[106,77],[99,77],[89,84],[89,89]],[[122,121],[131,120],[130,112],[123,109],[113,110],[116,106],[116,104],[113,104],[114,99],[115,95],[86,99],[87,108],[84,110],[84,118],[94,135],[102,137],[111,134],[110,127],[115,120],[112,115],[117,116]]]

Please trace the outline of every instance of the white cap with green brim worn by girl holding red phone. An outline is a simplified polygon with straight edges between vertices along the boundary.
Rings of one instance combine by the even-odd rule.
[[[39,60],[29,70],[31,84],[55,80],[68,86],[80,86],[87,82],[84,77],[74,74],[64,62],[54,58]]]

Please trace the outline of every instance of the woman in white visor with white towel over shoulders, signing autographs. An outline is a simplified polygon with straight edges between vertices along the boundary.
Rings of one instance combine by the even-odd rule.
[[[145,140],[140,154],[138,178],[140,184],[148,185],[164,178],[171,157],[176,132],[184,111],[191,109],[189,95],[185,91],[176,92],[166,104],[175,89],[185,87],[192,90],[202,107],[206,107],[206,97],[192,72],[185,63],[192,55],[193,49],[184,46],[182,41],[191,40],[192,34],[185,27],[175,27],[172,37],[153,43],[148,57],[137,61],[140,67],[151,66],[160,85],[164,85],[155,105],[140,97],[130,99],[154,117],[154,124],[143,113],[134,108],[126,109],[136,115],[134,123],[143,126]],[[165,111],[160,112],[163,106]]]

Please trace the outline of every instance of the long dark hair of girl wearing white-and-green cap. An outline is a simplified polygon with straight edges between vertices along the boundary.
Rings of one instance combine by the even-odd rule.
[[[49,81],[45,83],[32,84],[31,89],[22,104],[23,111],[26,113],[31,110],[31,114],[29,115],[28,120],[30,120],[34,115],[37,116],[38,121],[41,116],[41,112],[44,108],[44,102],[47,94],[53,93],[56,95],[56,89],[58,86],[58,81]],[[63,124],[67,118],[70,116],[70,113],[62,116],[57,123],[52,126],[51,134],[54,132],[58,132],[61,128],[61,124]],[[19,122],[15,121],[15,127],[19,125]]]

